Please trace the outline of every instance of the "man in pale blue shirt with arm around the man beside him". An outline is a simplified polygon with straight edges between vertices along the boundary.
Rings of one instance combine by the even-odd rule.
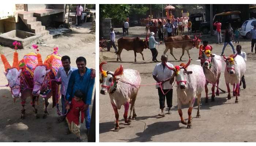
[[[71,73],[74,70],[77,70],[78,68],[75,67],[71,67],[70,66],[70,58],[68,56],[63,56],[61,57],[61,63],[62,63],[62,67],[59,68],[55,79],[59,80],[57,81],[57,84],[61,85],[60,87],[60,92],[61,92],[61,107],[62,107],[62,112],[61,112],[61,116],[59,116],[58,118],[58,122],[62,122],[65,120],[65,115],[67,113],[66,109],[65,109],[65,95],[67,92],[67,88],[68,88],[68,81],[69,78],[71,76]],[[95,70],[91,69],[91,77],[95,78]],[[57,105],[59,107],[59,105]]]

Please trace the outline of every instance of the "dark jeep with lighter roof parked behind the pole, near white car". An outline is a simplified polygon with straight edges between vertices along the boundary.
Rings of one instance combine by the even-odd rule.
[[[229,23],[231,23],[233,29],[240,27],[242,24],[240,11],[229,11],[215,14],[213,17],[213,23],[217,20],[221,22],[222,30],[224,30],[229,25]],[[213,26],[213,29],[216,30],[216,27]],[[210,31],[210,22],[202,22],[200,24],[200,30],[203,32],[203,34],[208,34]]]

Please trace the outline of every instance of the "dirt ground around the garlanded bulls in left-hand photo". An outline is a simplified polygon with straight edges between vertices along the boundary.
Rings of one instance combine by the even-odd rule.
[[[71,66],[76,66],[75,60],[83,56],[87,60],[87,67],[95,68],[95,34],[91,34],[90,28],[92,23],[85,23],[80,27],[73,27],[73,31],[60,35],[53,40],[46,42],[47,46],[39,46],[42,59],[53,52],[53,48],[59,47],[60,55],[68,55],[71,58]],[[32,44],[31,44],[32,45]],[[10,64],[12,64],[14,49],[1,47],[3,53]],[[18,50],[19,59],[26,53],[34,52],[34,49],[26,47]],[[3,71],[3,63],[0,63],[0,85],[8,84]],[[44,114],[44,100],[39,98],[38,109],[39,119],[35,119],[33,108],[30,105],[30,98],[26,101],[25,119],[20,119],[20,99],[13,103],[10,89],[8,87],[0,88],[0,142],[75,142],[76,136],[65,135],[67,126],[64,122],[57,123],[56,108],[52,107],[52,99],[48,106],[49,116],[42,118]],[[93,103],[93,102],[92,102]],[[90,110],[91,110],[90,106]],[[61,108],[60,108],[61,109]],[[83,141],[87,141],[85,122],[81,125],[81,135]]]

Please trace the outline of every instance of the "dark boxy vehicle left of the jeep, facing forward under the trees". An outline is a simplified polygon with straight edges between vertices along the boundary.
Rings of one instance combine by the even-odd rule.
[[[189,20],[192,23],[192,32],[200,30],[200,24],[204,22],[204,16],[201,13],[191,14]]]

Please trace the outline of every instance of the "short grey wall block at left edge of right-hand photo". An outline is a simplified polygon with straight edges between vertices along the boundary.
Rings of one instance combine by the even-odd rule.
[[[110,28],[112,27],[111,24],[112,18],[103,19],[99,24],[99,37],[100,38],[109,38]]]

